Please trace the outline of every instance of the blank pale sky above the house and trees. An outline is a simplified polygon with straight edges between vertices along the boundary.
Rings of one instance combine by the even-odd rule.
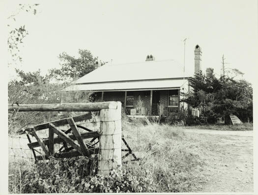
[[[7,16],[17,7],[7,3]],[[114,63],[144,61],[152,54],[156,60],[175,59],[182,65],[187,38],[187,72],[194,72],[198,44],[202,70],[212,67],[220,74],[224,54],[227,67],[239,69],[254,83],[257,10],[257,0],[47,1],[38,6],[36,16],[21,13],[15,22],[29,31],[20,68],[45,74],[60,67],[60,53],[77,56],[79,49]]]

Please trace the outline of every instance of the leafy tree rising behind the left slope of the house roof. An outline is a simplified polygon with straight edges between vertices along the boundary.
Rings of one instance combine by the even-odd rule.
[[[70,56],[66,52],[63,52],[59,56],[60,59],[60,69],[51,69],[50,76],[61,81],[83,77],[89,72],[95,69],[96,63],[104,64],[104,62],[99,62],[98,57],[92,56],[91,52],[88,50],[79,49],[79,57]]]

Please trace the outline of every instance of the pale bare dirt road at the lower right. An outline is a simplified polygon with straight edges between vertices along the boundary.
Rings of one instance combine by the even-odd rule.
[[[207,185],[200,192],[245,192],[253,187],[253,131],[186,129],[199,134],[212,155],[206,157]]]

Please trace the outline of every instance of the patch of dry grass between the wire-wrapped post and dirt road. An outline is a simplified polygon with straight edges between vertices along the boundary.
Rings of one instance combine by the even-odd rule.
[[[142,168],[150,170],[157,192],[196,192],[206,183],[202,167],[207,151],[201,140],[185,135],[182,127],[125,123],[123,135],[142,158],[125,166],[135,174]]]

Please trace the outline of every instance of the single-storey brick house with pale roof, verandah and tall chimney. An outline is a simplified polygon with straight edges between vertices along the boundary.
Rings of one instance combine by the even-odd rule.
[[[201,70],[201,48],[195,47],[195,72]],[[189,90],[189,78],[174,60],[147,56],[137,63],[107,63],[78,79],[66,91],[94,91],[95,101],[120,101],[127,115],[158,115],[165,111],[187,110],[180,92]],[[139,109],[141,108],[141,109]]]

